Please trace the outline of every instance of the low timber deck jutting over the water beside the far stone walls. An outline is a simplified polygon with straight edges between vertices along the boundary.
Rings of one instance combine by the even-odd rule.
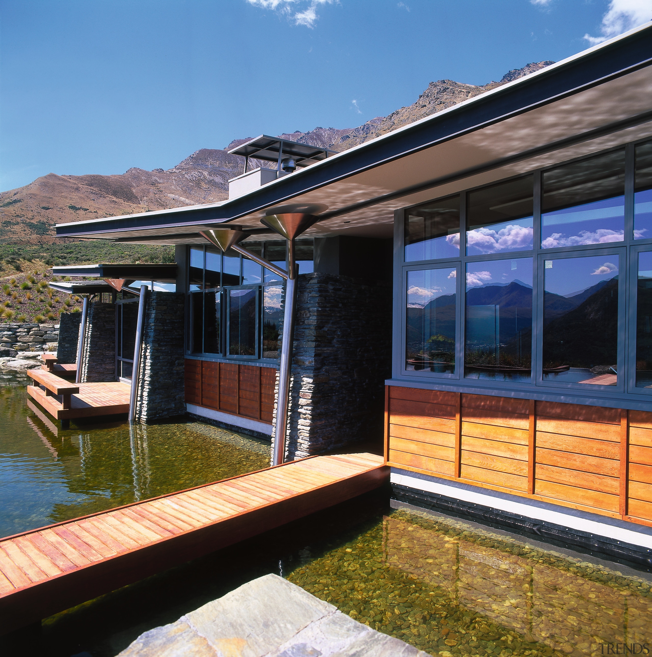
[[[80,392],[70,396],[70,408],[64,408],[62,395],[48,396],[43,386],[27,386],[27,392],[52,417],[57,420],[72,420],[100,415],[121,415],[129,412],[128,383],[110,381],[106,383],[76,383]]]

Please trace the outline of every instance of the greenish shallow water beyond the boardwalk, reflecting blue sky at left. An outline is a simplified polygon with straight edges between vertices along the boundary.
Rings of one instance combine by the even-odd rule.
[[[0,536],[269,465],[269,443],[200,424],[55,426],[0,371]]]

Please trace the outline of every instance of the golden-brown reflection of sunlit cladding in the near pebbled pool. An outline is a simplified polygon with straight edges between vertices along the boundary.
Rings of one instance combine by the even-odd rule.
[[[431,585],[442,610],[459,605],[526,641],[577,657],[599,653],[603,641],[631,644],[649,638],[649,600],[599,581],[600,575],[613,580],[613,574],[596,568],[592,577],[586,562],[575,574],[569,572],[572,560],[561,555],[555,567],[554,555],[540,562],[544,555],[534,548],[525,547],[528,558],[482,545],[477,535],[471,541],[392,516],[384,520],[384,536],[386,563]],[[484,543],[500,542],[493,539]]]

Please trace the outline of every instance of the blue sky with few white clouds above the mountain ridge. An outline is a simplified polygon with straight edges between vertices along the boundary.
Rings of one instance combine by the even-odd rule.
[[[355,127],[650,20],[649,0],[0,0],[0,191]],[[611,12],[611,13],[610,13]],[[586,35],[586,37],[585,37]]]

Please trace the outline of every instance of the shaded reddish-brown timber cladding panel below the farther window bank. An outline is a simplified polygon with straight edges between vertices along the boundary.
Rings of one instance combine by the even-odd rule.
[[[271,424],[276,369],[239,363],[185,361],[185,401]]]

